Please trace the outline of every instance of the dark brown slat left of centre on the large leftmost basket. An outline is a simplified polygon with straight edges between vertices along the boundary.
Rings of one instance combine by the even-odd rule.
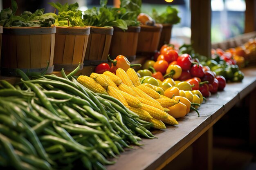
[[[17,41],[17,63],[18,68],[30,68],[31,56],[30,56],[30,38],[29,35],[16,36]],[[7,57],[7,56],[6,56]]]

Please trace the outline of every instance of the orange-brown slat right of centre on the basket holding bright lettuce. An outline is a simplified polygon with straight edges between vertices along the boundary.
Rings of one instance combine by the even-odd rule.
[[[83,45],[84,40],[85,40],[84,35],[75,35],[74,54],[73,54],[72,64],[77,64],[79,62],[81,63],[82,55],[83,55],[83,51],[81,49],[83,49],[84,47]]]

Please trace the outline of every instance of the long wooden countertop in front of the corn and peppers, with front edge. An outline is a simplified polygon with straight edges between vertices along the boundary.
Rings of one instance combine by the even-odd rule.
[[[108,170],[159,170],[189,147],[204,132],[211,128],[240,99],[256,88],[256,67],[245,68],[243,82],[229,83],[224,91],[211,95],[205,104],[184,118],[177,119],[179,125],[166,130],[154,131],[158,139],[143,139],[142,147],[126,149],[117,163]]]

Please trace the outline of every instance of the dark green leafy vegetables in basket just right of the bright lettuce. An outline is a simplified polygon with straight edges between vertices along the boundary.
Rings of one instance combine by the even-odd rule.
[[[84,12],[83,24],[90,26],[117,26],[122,30],[126,30],[126,22],[119,18],[121,10],[118,8],[107,7],[107,0],[100,0],[100,8],[92,7]]]

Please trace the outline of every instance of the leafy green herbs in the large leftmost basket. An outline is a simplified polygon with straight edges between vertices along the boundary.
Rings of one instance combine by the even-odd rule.
[[[15,15],[18,9],[17,3],[11,0],[11,9],[6,8],[0,12],[0,25],[3,27],[20,27],[20,26],[52,26],[55,19],[45,9],[38,9],[34,13],[24,11],[20,16]]]

